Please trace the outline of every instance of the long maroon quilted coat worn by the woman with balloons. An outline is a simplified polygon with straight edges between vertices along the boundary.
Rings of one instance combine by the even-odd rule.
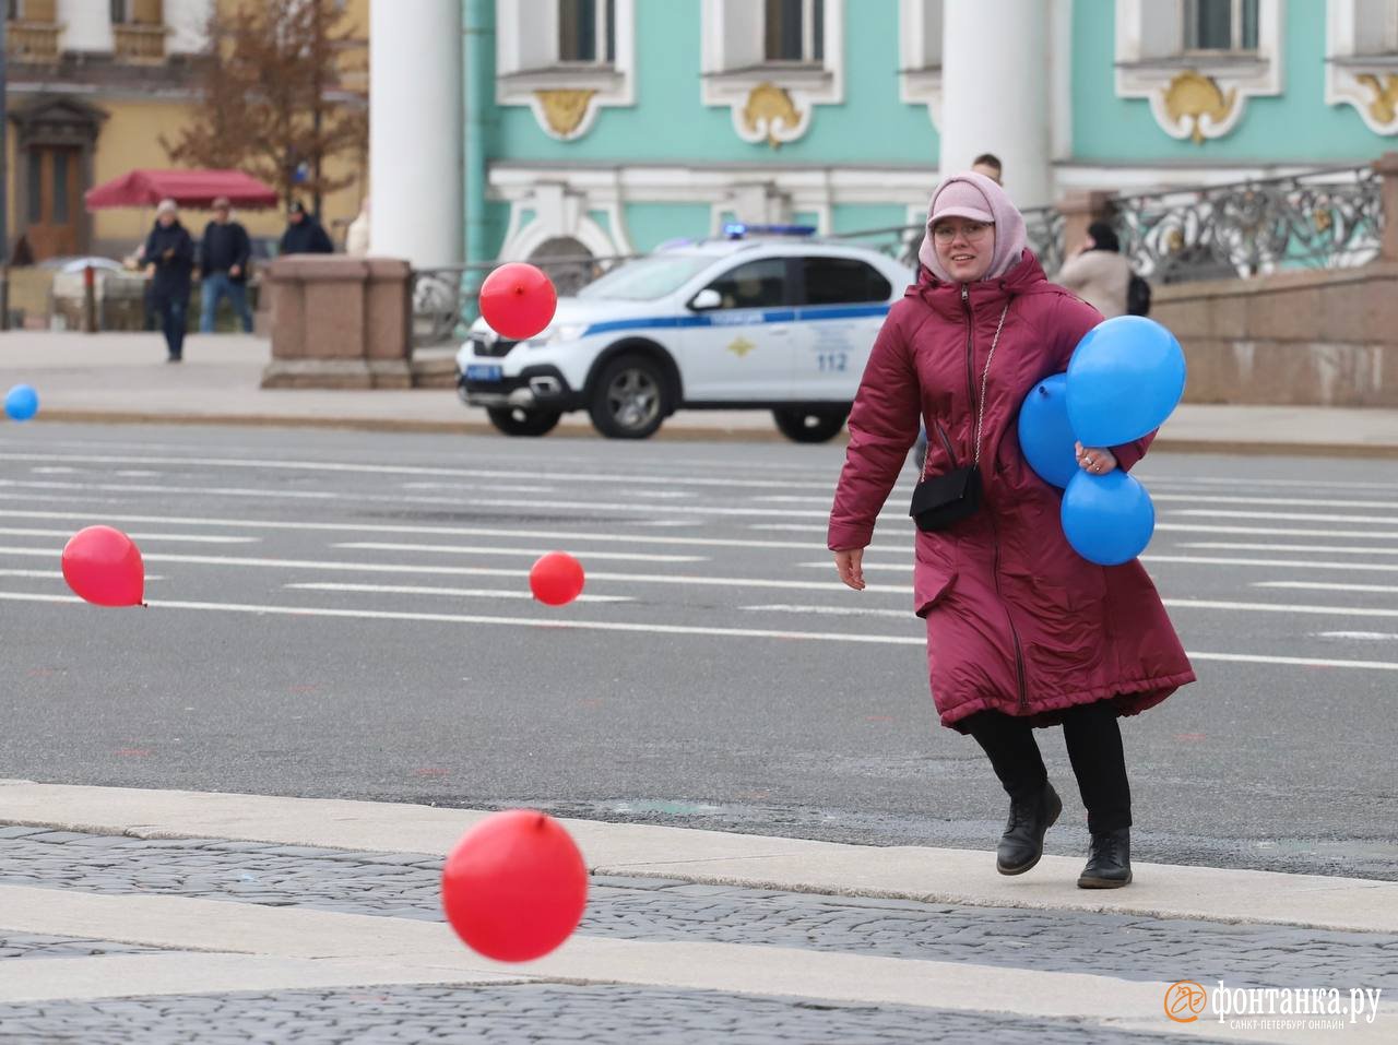
[[[914,611],[927,619],[932,699],[942,725],[963,733],[958,722],[981,708],[1042,726],[1060,722],[1062,708],[1110,699],[1134,715],[1194,680],[1141,563],[1103,567],[1078,556],[1058,522],[1061,492],[1019,450],[1025,395],[1067,370],[1079,338],[1102,320],[1050,284],[1028,250],[1004,277],[974,284],[923,268],[892,307],[850,414],[829,546],[870,543],[920,418],[928,475],[970,464],[974,401],[1007,303],[986,395],[983,507],[938,532],[902,524],[917,534]],[[1121,467],[1139,461],[1152,437],[1113,447]]]

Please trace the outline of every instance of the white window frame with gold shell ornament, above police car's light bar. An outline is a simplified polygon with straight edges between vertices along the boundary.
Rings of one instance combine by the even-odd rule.
[[[844,0],[823,0],[818,63],[766,60],[758,0],[702,3],[700,101],[731,109],[740,138],[779,148],[805,136],[816,105],[844,101]]]

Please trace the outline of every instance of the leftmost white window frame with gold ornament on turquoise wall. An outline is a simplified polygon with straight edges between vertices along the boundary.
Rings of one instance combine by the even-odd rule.
[[[605,0],[597,0],[598,4]],[[611,63],[558,56],[558,0],[495,0],[495,101],[527,105],[558,141],[580,138],[605,106],[636,103],[636,0],[614,0]]]

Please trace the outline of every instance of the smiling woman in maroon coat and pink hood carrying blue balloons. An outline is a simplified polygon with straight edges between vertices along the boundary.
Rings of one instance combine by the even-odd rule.
[[[1092,844],[1078,884],[1131,882],[1131,794],[1118,717],[1159,704],[1194,671],[1139,562],[1079,557],[1058,524],[1060,492],[1025,461],[1016,415],[1042,379],[1067,370],[1100,314],[1050,284],[1025,222],[991,179],[966,172],[932,194],[918,282],[884,323],[850,412],[829,548],[846,585],[918,419],[932,434],[924,475],[974,464],[979,507],[916,535],[914,612],[927,622],[932,699],[944,726],[984,749],[1009,794],[995,854],[1021,875],[1043,854],[1062,803],[1035,728],[1062,725]],[[1085,447],[1093,475],[1131,468],[1153,433]]]

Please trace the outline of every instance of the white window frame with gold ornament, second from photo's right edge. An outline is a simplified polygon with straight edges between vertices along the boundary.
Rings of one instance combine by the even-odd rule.
[[[1222,138],[1248,98],[1282,92],[1283,18],[1285,0],[1258,0],[1257,52],[1187,52],[1184,0],[1117,0],[1117,96],[1149,99],[1172,138]]]

